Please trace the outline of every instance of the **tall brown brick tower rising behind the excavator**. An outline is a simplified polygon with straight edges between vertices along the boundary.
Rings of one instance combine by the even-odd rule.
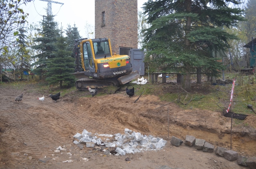
[[[95,38],[109,37],[112,53],[138,48],[137,0],[95,0]]]

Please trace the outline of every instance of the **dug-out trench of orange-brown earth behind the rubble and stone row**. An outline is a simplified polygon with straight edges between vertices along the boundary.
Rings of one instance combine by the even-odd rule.
[[[134,103],[136,98],[128,98],[126,94],[98,96],[96,99],[80,98],[79,104],[83,105],[80,111],[104,118],[122,130],[129,128],[142,134],[168,137],[169,128],[169,137],[175,136],[184,140],[186,135],[192,135],[214,146],[230,149],[231,118],[222,116],[221,112],[182,110],[173,103],[157,108],[166,104],[160,102],[157,96],[141,96]],[[245,120],[246,123],[255,125],[255,116],[248,116]],[[256,130],[249,126],[233,124],[232,150],[255,156]]]

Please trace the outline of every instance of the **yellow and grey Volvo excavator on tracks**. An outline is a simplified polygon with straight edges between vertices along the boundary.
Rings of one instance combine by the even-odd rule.
[[[109,38],[76,39],[75,58],[78,90],[124,85],[140,77],[137,71],[132,72],[128,55],[112,55]]]

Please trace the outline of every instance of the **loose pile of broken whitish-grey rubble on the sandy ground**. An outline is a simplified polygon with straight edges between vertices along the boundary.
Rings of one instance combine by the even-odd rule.
[[[97,138],[97,136],[105,137],[105,139]],[[86,144],[86,147],[94,147],[95,145],[112,147],[115,155],[125,155],[126,153],[137,153],[148,150],[161,149],[167,143],[162,138],[155,138],[152,135],[146,136],[139,132],[133,132],[129,129],[124,129],[124,134],[92,134],[87,130],[83,130],[82,134],[74,135],[75,144]],[[112,139],[112,140],[110,140]]]

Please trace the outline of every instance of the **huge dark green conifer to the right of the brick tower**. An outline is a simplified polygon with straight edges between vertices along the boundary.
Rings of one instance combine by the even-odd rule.
[[[226,51],[236,36],[222,28],[236,26],[243,10],[229,3],[240,0],[148,0],[144,3],[150,28],[145,31],[145,61],[157,59],[163,71],[184,74],[183,87],[190,89],[190,72],[196,68],[211,76],[223,69],[214,53]]]

